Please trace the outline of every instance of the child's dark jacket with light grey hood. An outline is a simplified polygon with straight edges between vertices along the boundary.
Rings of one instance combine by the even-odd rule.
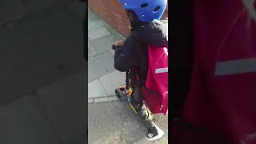
[[[116,46],[114,68],[125,72],[136,67],[140,84],[144,85],[148,70],[147,46],[168,46],[168,20],[154,20],[134,29],[123,46]]]

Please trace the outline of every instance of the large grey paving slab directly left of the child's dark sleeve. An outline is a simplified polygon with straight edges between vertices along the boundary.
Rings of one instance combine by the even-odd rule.
[[[88,82],[114,71],[114,57],[110,51],[88,59]]]

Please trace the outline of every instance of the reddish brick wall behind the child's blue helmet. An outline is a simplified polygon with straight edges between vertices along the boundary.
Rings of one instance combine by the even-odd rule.
[[[129,18],[127,18],[126,11],[122,8],[118,0],[90,0],[88,1],[88,5],[90,10],[98,14],[99,17],[123,36],[130,34],[128,28],[130,25]],[[167,10],[168,6],[163,18],[168,17]]]

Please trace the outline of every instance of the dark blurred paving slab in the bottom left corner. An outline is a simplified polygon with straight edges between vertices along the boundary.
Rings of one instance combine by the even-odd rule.
[[[33,95],[0,107],[0,143],[58,144],[58,138]]]

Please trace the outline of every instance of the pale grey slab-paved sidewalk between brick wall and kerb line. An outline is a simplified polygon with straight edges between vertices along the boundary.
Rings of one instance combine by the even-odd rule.
[[[125,38],[91,10],[88,14],[88,102],[117,100],[114,90],[125,83],[126,75],[114,70],[111,46],[116,40]]]

